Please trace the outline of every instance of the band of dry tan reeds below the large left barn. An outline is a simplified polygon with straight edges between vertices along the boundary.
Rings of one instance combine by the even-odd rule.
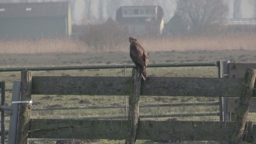
[[[86,47],[80,41],[65,38],[38,39],[38,40],[3,40],[0,41],[0,53],[49,53],[49,52],[86,52]]]

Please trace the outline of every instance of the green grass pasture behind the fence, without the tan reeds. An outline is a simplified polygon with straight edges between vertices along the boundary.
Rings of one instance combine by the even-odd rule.
[[[250,50],[224,50],[224,51],[185,51],[185,52],[150,52],[151,63],[184,63],[184,62],[212,62],[216,60],[232,60],[236,62],[256,62],[254,51]],[[42,53],[42,54],[1,54],[1,68],[7,67],[39,67],[39,66],[78,66],[78,65],[108,65],[132,64],[127,52],[88,52],[88,53]],[[174,77],[218,77],[216,67],[177,67],[177,68],[148,68],[148,76],[174,76]],[[36,76],[124,76],[124,69],[103,70],[55,70],[34,71]],[[131,76],[131,69],[126,69],[126,76]],[[6,81],[6,89],[10,89],[13,81],[20,80],[20,72],[1,72],[0,80]],[[10,104],[11,93],[7,92],[6,102]],[[62,96],[43,95],[33,96],[34,107],[74,107],[98,105],[124,105],[124,97],[120,96]],[[164,97],[141,96],[142,104],[174,104],[218,102],[216,98],[204,97]],[[140,113],[147,114],[186,114],[218,112],[218,106],[196,106],[181,108],[142,108]],[[125,108],[108,110],[50,110],[33,111],[32,118],[82,118],[100,116],[123,116]],[[147,118],[156,120],[156,118]],[[157,118],[166,120],[167,118]],[[178,120],[214,120],[218,116],[181,117]],[[255,119],[253,116],[251,119]],[[95,140],[95,143],[123,143],[124,141]],[[90,140],[88,141],[90,142]],[[141,143],[150,141],[142,140]],[[32,142],[37,143],[37,142]],[[54,143],[54,142],[50,142]]]

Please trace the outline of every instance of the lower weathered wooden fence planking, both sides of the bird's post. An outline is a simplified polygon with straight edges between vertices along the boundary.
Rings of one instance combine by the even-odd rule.
[[[251,123],[251,122],[249,122]],[[126,138],[127,120],[30,120],[30,138],[115,139]],[[226,141],[234,122],[140,121],[140,140]],[[251,132],[252,129],[248,129]]]

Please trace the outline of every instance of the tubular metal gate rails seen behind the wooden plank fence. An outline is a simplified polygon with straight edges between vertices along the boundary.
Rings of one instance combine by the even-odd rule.
[[[149,64],[148,68],[154,68],[154,67],[186,67],[186,66],[218,66],[218,70],[220,70],[220,62],[202,62],[202,63],[177,63],[177,64]],[[111,69],[111,68],[124,68],[124,76],[126,76],[126,68],[134,68],[134,64],[128,64],[128,65],[103,65],[103,66],[58,66],[58,67],[32,67],[32,68],[0,68],[0,72],[15,72],[15,71],[22,71],[22,70],[32,70],[32,71],[42,71],[42,70],[89,70],[89,69]],[[5,90],[8,91],[8,90]],[[219,102],[212,102],[212,103],[194,103],[194,104],[147,104],[142,105],[141,107],[156,107],[156,106],[209,106],[209,105],[222,105]],[[96,108],[97,106],[91,106],[91,107],[76,107],[78,109],[90,109],[90,108]],[[128,106],[99,106],[98,108],[128,108]],[[70,109],[70,107],[62,107],[64,109]],[[75,107],[72,107],[71,109],[76,109]],[[33,110],[40,110],[40,108],[33,108]],[[54,108],[43,108],[42,110],[54,110]],[[58,108],[56,110],[59,110]],[[157,115],[157,117],[170,117],[170,116],[208,116],[208,115],[219,115],[220,113],[208,113],[208,114],[162,114]],[[125,116],[127,117],[127,116]],[[156,117],[156,115],[144,115],[141,116],[141,118],[153,118]],[[96,118],[96,117],[95,117]],[[114,119],[115,117],[100,117],[101,119]],[[118,118],[118,116],[116,117]],[[124,116],[122,116],[124,118]],[[90,118],[92,119],[92,118]]]

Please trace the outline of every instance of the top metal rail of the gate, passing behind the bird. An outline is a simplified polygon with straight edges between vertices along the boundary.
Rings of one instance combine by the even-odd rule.
[[[218,66],[217,62],[195,62],[195,63],[176,63],[176,64],[148,64],[148,68],[157,67],[182,67],[182,66]],[[109,68],[134,68],[134,64],[116,64],[100,66],[55,66],[55,67],[19,67],[19,68],[0,68],[0,72],[17,72],[22,70],[90,70],[90,69],[109,69]]]

